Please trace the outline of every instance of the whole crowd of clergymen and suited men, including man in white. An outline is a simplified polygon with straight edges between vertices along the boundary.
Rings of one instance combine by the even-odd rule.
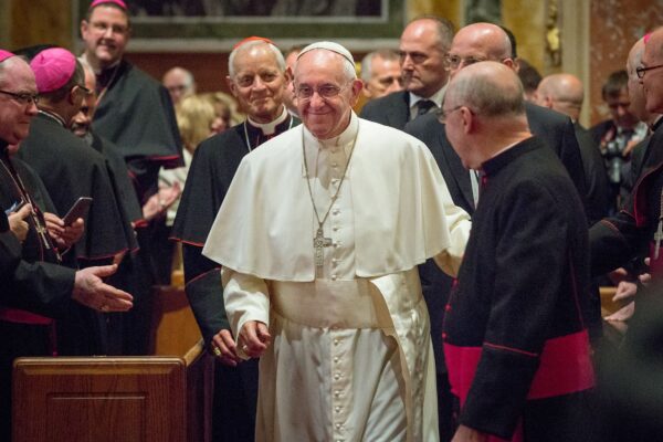
[[[491,23],[417,18],[360,76],[336,42],[239,38],[230,95],[158,83],[130,30],[94,0],[80,56],[0,50],[0,440],[17,357],[147,354],[173,256],[214,441],[652,440],[612,421],[641,397],[601,362],[599,285],[635,330],[614,360],[659,357],[663,29],[590,130],[582,83],[526,78]]]

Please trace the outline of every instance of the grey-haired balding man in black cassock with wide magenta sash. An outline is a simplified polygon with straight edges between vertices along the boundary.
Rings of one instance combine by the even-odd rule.
[[[587,222],[559,158],[533,136],[516,73],[473,63],[452,78],[446,136],[481,199],[444,317],[460,399],[453,439],[590,441]],[[541,277],[541,275],[545,275]]]

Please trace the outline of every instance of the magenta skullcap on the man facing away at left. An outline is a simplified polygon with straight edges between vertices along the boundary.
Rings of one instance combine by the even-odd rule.
[[[36,91],[45,94],[57,91],[71,80],[76,71],[76,57],[65,49],[50,48],[36,54],[30,67],[34,72]]]

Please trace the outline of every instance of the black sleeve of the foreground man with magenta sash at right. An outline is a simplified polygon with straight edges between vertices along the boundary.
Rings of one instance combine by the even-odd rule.
[[[509,439],[569,277],[562,246],[569,223],[564,203],[537,185],[519,186],[495,204],[494,298],[486,299],[491,311],[481,359],[460,422]]]

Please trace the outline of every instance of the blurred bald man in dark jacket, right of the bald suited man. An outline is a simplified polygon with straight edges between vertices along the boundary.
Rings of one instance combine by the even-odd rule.
[[[566,114],[573,122],[589,194],[587,217],[593,224],[608,214],[610,189],[599,146],[592,139],[589,130],[578,122],[583,99],[585,88],[580,78],[571,74],[552,74],[539,83],[535,103]]]

